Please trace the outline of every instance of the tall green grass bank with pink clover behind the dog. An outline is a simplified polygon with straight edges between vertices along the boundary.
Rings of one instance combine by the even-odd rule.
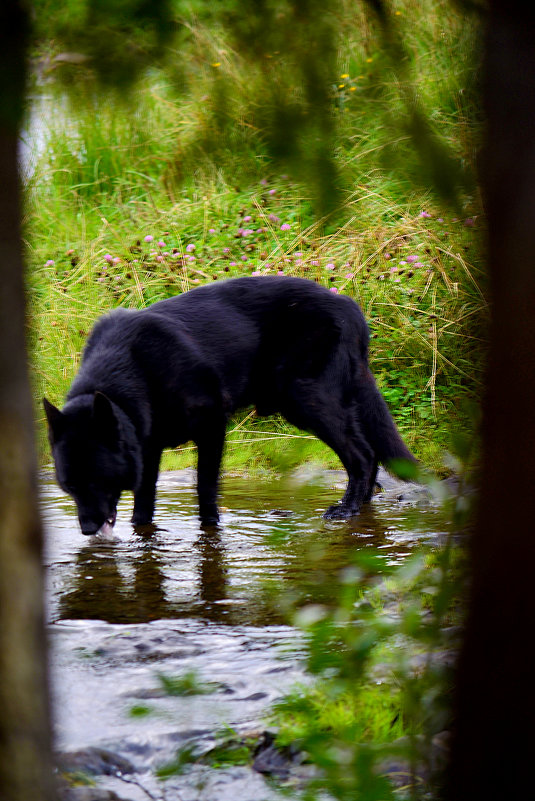
[[[264,66],[213,19],[196,17],[194,6],[180,58],[168,53],[165,69],[148,72],[122,100],[96,94],[85,67],[69,67],[77,70],[74,98],[60,81],[47,85],[55,101],[25,207],[41,460],[49,457],[40,398],[62,403],[100,314],[205,282],[282,271],[362,305],[372,369],[403,436],[424,463],[442,469],[451,432],[471,428],[468,401],[480,390],[487,306],[483,225],[470,185],[478,139],[470,105],[475,34],[449,3],[424,5],[425,13],[411,0],[393,6],[408,54],[399,70],[376,26],[360,10],[355,17],[354,4],[340,6],[338,78],[327,87],[339,206],[325,219],[317,217],[317,184],[307,171],[273,158],[276,106]],[[284,54],[267,56],[282,76]],[[455,209],[433,189],[429,163],[424,158],[422,167],[409,138],[409,90],[464,171]],[[223,115],[210,100],[218,92],[226,98]],[[299,152],[317,136],[303,129]],[[253,233],[239,236],[239,229]],[[226,469],[280,470],[308,459],[337,465],[321,443],[250,409],[230,431]],[[166,455],[164,466],[194,459],[187,445]]]

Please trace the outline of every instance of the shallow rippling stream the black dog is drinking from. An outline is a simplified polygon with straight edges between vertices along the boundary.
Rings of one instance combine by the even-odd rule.
[[[125,497],[113,539],[103,540],[80,533],[73,502],[44,473],[57,750],[81,751],[82,769],[87,749],[112,752],[118,767],[108,772],[121,775],[98,786],[132,801],[278,798],[249,767],[198,766],[165,782],[154,769],[186,743],[208,750],[221,731],[262,732],[270,704],[306,680],[299,633],[281,608],[286,594],[328,601],[355,549],[373,547],[398,563],[444,534],[447,521],[421,488],[384,473],[380,480],[384,491],[348,523],[321,516],[341,495],[342,473],[227,476],[221,526],[205,532],[194,472],[163,473],[156,531],[133,531]],[[162,674],[190,672],[214,691],[164,691]]]

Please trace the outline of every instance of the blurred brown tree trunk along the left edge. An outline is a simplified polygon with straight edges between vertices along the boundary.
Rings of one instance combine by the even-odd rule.
[[[26,17],[22,0],[0,5],[0,798],[52,801],[17,169]]]

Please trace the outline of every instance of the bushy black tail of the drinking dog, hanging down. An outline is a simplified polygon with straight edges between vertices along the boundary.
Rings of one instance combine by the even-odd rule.
[[[399,465],[396,462],[405,460],[417,464],[417,459],[401,439],[401,434],[370,370],[366,371],[364,381],[359,386],[358,397],[362,427],[377,460],[403,478],[405,471],[398,471]]]

